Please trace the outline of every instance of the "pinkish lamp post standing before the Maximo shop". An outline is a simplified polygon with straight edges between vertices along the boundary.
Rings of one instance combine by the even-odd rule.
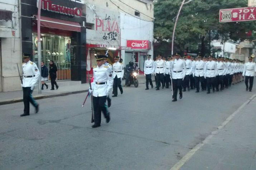
[[[40,37],[40,19],[41,19],[41,3],[42,0],[38,0],[38,11],[37,11],[37,42],[38,42],[38,69],[41,68],[41,37]],[[40,76],[38,78],[38,93],[42,93],[42,89],[40,87],[41,84],[41,69]]]

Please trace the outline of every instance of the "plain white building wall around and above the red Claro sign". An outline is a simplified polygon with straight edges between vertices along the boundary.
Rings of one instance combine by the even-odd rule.
[[[137,17],[120,13],[121,18],[121,46],[126,46],[126,40],[149,40],[151,42],[151,50],[134,49],[134,51],[147,52],[153,58],[153,29],[154,23],[143,21]],[[133,50],[130,50],[133,51]],[[125,50],[121,51],[121,56],[125,61]],[[127,63],[124,62],[124,66]],[[140,66],[141,67],[141,66]]]

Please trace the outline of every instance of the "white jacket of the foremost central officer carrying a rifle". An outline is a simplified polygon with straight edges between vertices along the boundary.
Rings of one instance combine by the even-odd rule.
[[[113,87],[113,76],[108,68],[108,66],[104,65],[93,68],[92,90],[95,97],[107,96]]]

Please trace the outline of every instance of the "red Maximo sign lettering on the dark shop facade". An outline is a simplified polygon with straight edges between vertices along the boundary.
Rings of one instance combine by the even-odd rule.
[[[41,0],[42,1],[42,9],[52,12],[57,12],[64,15],[70,15],[70,16],[76,16],[80,17],[82,15],[82,9],[81,8],[70,8],[66,6],[56,5],[53,4],[51,0]]]

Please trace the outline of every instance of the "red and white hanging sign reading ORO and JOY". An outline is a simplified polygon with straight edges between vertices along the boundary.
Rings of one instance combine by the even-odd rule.
[[[219,22],[238,22],[256,20],[256,7],[219,10]]]

